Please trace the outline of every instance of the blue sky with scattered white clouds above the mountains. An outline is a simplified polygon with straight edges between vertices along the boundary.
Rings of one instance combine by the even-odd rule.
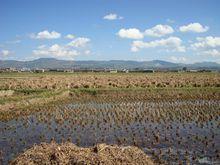
[[[219,0],[0,0],[0,59],[220,63]]]

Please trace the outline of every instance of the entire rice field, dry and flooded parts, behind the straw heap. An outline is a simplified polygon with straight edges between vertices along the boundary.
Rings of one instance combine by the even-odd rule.
[[[1,73],[0,89],[2,164],[51,140],[220,164],[219,73]]]

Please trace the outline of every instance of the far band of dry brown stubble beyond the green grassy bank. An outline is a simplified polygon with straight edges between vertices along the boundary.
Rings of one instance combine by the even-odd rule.
[[[0,75],[0,89],[219,87],[219,73]]]

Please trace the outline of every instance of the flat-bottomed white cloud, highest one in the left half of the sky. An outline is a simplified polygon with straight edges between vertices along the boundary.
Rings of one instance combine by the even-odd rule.
[[[31,34],[30,37],[33,39],[57,39],[61,37],[61,34],[56,31],[49,32],[47,30],[44,30],[37,34]]]

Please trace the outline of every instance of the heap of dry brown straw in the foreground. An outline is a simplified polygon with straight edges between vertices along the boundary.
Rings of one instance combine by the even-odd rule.
[[[153,161],[137,147],[98,144],[80,148],[73,143],[41,143],[14,159],[11,165],[34,164],[132,164],[153,165]]]

